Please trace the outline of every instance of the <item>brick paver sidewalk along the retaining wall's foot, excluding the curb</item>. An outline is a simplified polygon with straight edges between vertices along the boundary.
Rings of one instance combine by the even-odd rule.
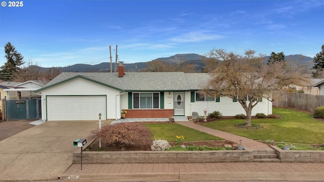
[[[227,162],[227,163],[129,163],[72,164],[65,174],[171,173],[171,172],[323,172],[324,163]]]

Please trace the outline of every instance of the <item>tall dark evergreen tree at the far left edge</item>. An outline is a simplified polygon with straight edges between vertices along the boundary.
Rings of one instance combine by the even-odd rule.
[[[0,79],[5,81],[12,81],[15,75],[20,73],[19,66],[23,65],[24,57],[16,51],[14,45],[8,42],[5,45],[5,58],[7,62],[1,67]]]

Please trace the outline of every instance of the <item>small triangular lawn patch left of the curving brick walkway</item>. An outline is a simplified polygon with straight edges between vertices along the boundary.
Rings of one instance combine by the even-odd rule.
[[[183,142],[190,141],[216,141],[224,140],[217,136],[201,132],[180,124],[170,123],[157,123],[157,124],[144,124],[152,133],[153,140],[166,140],[168,142],[176,142],[176,135],[184,136]]]

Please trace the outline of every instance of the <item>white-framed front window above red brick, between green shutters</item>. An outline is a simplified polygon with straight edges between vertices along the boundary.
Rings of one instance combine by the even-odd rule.
[[[159,93],[133,93],[134,109],[158,109]]]

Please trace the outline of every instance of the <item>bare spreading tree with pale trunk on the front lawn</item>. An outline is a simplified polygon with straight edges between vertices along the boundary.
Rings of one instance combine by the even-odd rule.
[[[280,88],[285,91],[289,85],[303,85],[306,76],[284,62],[265,64],[264,55],[255,56],[256,51],[247,50],[245,56],[212,50],[209,57],[217,61],[211,70],[211,79],[201,94],[211,97],[225,96],[236,99],[247,115],[246,125],[251,126],[252,109],[261,98],[272,101],[272,92]]]

